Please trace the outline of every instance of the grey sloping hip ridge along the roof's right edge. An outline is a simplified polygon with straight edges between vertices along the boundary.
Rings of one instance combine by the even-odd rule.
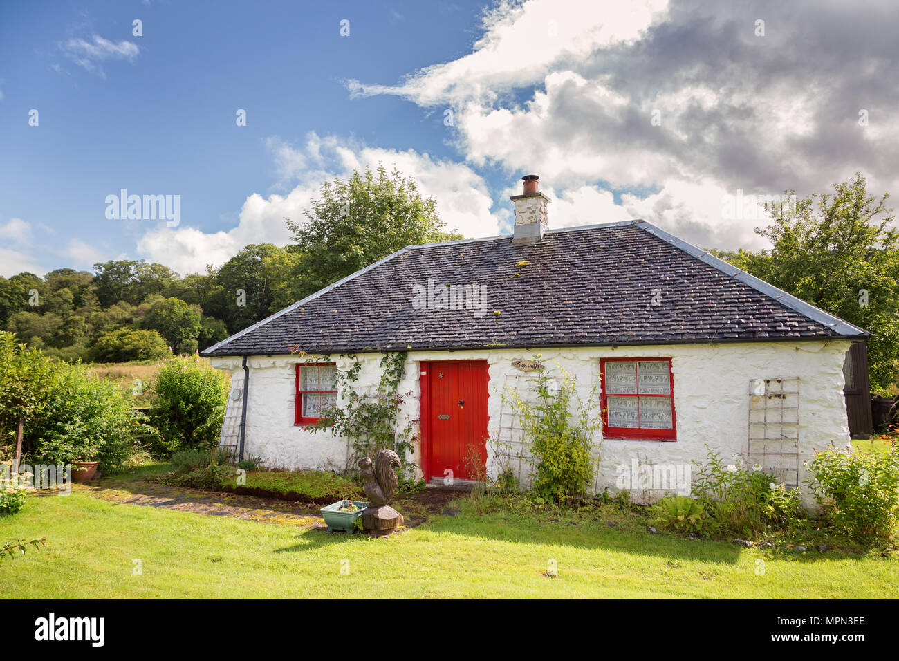
[[[681,238],[675,237],[674,235],[669,234],[661,228],[655,227],[652,223],[644,219],[636,220],[634,222],[634,225],[637,228],[643,229],[645,232],[652,234],[654,237],[658,237],[666,243],[671,244],[682,252],[698,259],[703,264],[708,264],[712,268],[715,268],[718,271],[725,273],[725,275],[729,275],[730,277],[734,278],[734,280],[743,282],[743,284],[752,287],[753,290],[761,292],[768,298],[776,300],[787,308],[798,312],[800,315],[803,315],[804,317],[811,319],[812,321],[816,321],[823,326],[827,326],[838,335],[841,335],[843,337],[851,337],[856,335],[859,337],[868,337],[871,335],[864,328],[859,328],[859,326],[850,324],[850,322],[846,321],[845,319],[841,319],[840,317],[832,315],[826,310],[818,308],[811,303],[807,303],[805,300],[799,299],[796,296],[793,296],[793,294],[781,290],[770,284],[769,282],[760,280],[751,273],[737,268],[736,266],[734,266],[734,264],[729,264],[723,259],[719,259],[715,255],[709,254],[702,248],[693,246],[693,244],[688,243]]]

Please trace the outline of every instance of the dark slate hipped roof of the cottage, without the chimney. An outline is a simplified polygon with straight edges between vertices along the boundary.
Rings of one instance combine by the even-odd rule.
[[[416,309],[414,286],[424,290],[429,279],[435,288],[485,286],[485,314],[476,308]],[[407,246],[202,355],[868,335],[644,220],[629,220],[549,230],[527,246],[513,246],[511,236]]]

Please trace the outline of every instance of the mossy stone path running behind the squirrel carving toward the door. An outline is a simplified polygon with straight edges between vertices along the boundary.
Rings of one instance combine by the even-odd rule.
[[[306,503],[171,487],[135,481],[133,478],[102,478],[76,484],[73,488],[111,503],[162,507],[208,516],[230,516],[245,521],[327,530],[325,520],[319,515],[318,506]],[[464,492],[429,488],[421,493],[399,498],[393,505],[405,515],[402,530],[420,525],[434,514],[441,514],[449,500],[461,493]]]

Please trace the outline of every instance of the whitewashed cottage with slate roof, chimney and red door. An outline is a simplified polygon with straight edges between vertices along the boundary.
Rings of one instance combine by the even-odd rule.
[[[430,482],[475,478],[472,448],[488,474],[527,482],[503,393],[527,397],[540,367],[595,389],[599,491],[662,496],[672,485],[652,476],[689,479],[707,444],[801,485],[814,450],[849,441],[843,364],[868,332],[644,220],[550,229],[538,177],[524,180],[512,236],[407,246],[203,352],[234,384],[222,444],[347,468],[346,440],[308,425],[341,397],[335,371],[360,362],[373,388],[395,352]]]

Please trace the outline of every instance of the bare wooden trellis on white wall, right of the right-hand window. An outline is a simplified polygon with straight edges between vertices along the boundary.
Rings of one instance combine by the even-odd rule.
[[[799,486],[799,379],[749,382],[749,460]]]

